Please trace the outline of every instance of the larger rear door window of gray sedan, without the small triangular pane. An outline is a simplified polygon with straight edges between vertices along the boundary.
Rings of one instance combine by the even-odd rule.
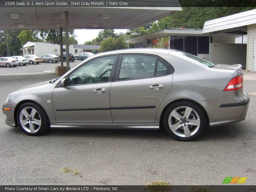
[[[140,79],[154,76],[156,57],[149,55],[124,55],[119,80]]]

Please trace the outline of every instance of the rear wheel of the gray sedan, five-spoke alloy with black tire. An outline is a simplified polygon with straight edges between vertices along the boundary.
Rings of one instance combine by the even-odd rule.
[[[203,109],[190,101],[179,101],[171,105],[163,121],[165,131],[181,141],[194,140],[208,126]]]

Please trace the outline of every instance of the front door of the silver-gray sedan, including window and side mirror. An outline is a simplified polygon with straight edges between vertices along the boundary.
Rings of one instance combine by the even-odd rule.
[[[90,60],[66,77],[67,87],[56,85],[56,123],[112,123],[109,93],[117,59],[113,55]]]

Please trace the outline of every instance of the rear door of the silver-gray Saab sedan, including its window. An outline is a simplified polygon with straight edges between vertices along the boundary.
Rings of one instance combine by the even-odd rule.
[[[172,72],[170,64],[155,55],[120,55],[110,91],[113,123],[155,123],[171,89]]]

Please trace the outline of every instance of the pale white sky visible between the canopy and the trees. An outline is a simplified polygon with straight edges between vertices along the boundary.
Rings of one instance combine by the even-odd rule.
[[[84,42],[91,41],[97,37],[101,30],[103,29],[75,29],[75,38],[78,44],[84,44]],[[126,33],[127,29],[115,29],[115,33],[119,34],[120,32]]]

